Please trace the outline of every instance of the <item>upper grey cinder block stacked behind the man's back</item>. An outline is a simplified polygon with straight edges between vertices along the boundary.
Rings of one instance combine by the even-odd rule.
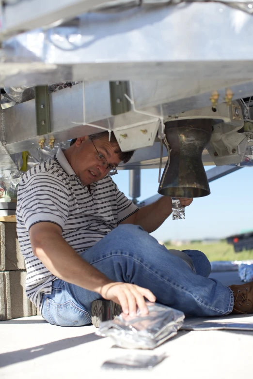
[[[16,223],[0,222],[0,271],[25,270]]]

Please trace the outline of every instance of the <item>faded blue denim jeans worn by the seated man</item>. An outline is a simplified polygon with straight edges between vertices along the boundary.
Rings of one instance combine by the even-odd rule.
[[[222,316],[232,312],[230,288],[206,276],[210,263],[200,251],[186,250],[196,274],[183,259],[136,225],[120,225],[81,257],[116,282],[149,288],[162,303],[192,316]],[[81,326],[91,323],[93,291],[57,279],[52,293],[43,295],[42,316],[49,323]]]

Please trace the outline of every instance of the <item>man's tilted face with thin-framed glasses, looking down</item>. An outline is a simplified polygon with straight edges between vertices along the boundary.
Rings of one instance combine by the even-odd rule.
[[[84,185],[103,179],[110,171],[108,164],[117,167],[121,162],[118,154],[114,152],[115,146],[107,138],[92,141],[89,136],[79,137],[74,145],[69,149],[71,154],[67,153],[66,157]],[[101,154],[105,159],[101,159]]]

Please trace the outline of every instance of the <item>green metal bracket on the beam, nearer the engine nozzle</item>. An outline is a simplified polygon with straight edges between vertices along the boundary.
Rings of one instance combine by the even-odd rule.
[[[128,95],[128,82],[110,82],[111,114],[113,116],[126,113],[130,110]]]

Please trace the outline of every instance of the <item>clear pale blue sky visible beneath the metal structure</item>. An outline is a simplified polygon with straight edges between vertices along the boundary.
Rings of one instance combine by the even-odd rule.
[[[205,167],[209,169],[211,167]],[[113,176],[129,197],[129,171]],[[195,198],[186,208],[185,220],[170,216],[152,235],[158,241],[224,238],[245,229],[253,230],[253,167],[244,167],[209,183],[211,194]],[[157,194],[158,169],[141,170],[141,197]]]

